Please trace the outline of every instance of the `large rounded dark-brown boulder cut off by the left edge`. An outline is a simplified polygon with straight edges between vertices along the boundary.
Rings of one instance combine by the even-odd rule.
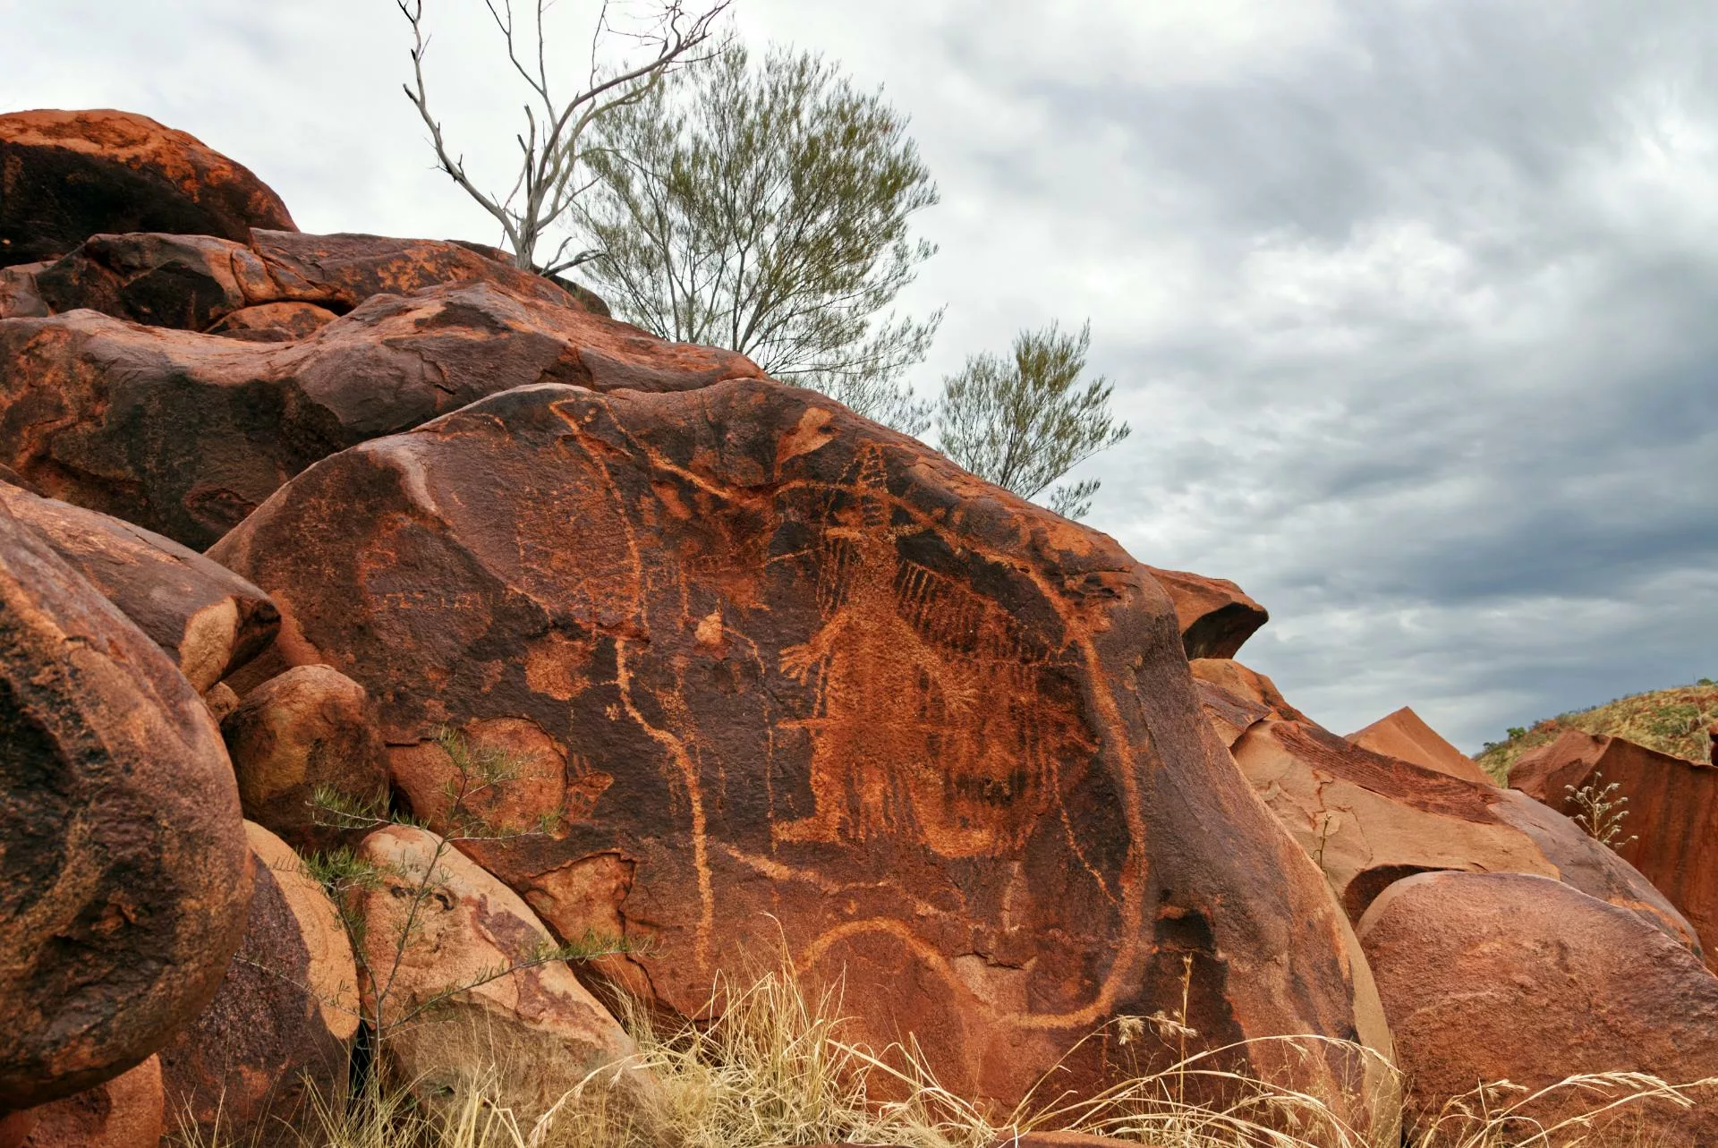
[[[194,1017],[244,930],[232,765],[174,663],[0,509],[0,1108]]]

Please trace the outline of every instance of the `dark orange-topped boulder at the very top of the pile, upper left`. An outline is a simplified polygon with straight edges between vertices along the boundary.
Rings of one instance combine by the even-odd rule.
[[[0,265],[57,258],[96,232],[244,242],[292,217],[247,168],[131,112],[0,115]]]

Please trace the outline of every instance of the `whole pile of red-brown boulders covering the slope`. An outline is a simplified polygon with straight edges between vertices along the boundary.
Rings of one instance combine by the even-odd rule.
[[[295,1143],[354,1072],[649,1119],[620,1004],[783,959],[974,1103],[1213,1050],[1386,1134],[1392,1064],[1416,1119],[1550,1067],[1453,1055],[1452,985],[1560,919],[1630,945],[1569,992],[1658,962],[1581,1071],[1718,1062],[1646,1035],[1718,1000],[1668,828],[1637,870],[1410,710],[1323,730],[1234,583],[141,117],[0,160],[0,1136]]]

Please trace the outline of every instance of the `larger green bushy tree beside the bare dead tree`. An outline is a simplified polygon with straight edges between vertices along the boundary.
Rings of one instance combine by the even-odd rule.
[[[603,258],[586,273],[663,339],[730,347],[921,433],[928,407],[900,375],[941,313],[890,306],[935,253],[907,222],[936,187],[905,129],[814,53],[754,65],[734,45],[593,125],[576,213]]]

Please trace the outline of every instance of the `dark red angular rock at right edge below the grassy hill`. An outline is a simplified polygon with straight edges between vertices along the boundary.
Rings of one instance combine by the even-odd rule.
[[[1689,918],[1706,959],[1718,959],[1718,766],[1569,730],[1524,753],[1508,775],[1512,789],[1570,816],[1581,809],[1565,785],[1611,782],[1629,799],[1617,854]]]

